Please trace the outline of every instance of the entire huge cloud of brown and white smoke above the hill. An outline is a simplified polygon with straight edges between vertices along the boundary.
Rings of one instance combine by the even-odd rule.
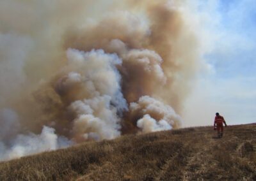
[[[179,128],[200,62],[184,4],[1,1],[0,160]]]

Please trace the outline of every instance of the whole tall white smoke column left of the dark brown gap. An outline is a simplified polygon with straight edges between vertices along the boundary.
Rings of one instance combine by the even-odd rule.
[[[116,54],[106,54],[103,50],[82,52],[68,49],[67,57],[66,69],[72,72],[64,80],[61,78],[61,85],[71,89],[74,83],[79,83],[79,89],[83,89],[79,91],[83,99],[69,106],[69,110],[76,114],[72,128],[76,141],[120,136],[117,113],[127,110],[120,87],[120,74],[116,69],[122,60]]]

